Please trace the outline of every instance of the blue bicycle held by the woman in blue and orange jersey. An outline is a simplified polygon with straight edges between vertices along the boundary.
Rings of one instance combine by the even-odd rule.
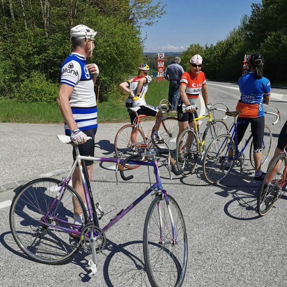
[[[241,150],[238,148],[237,142],[237,125],[245,124],[246,121],[237,122],[236,117],[241,111],[227,111],[225,114],[234,117],[234,122],[229,128],[226,135],[220,135],[215,138],[208,146],[207,151],[203,158],[203,173],[207,181],[216,184],[225,179],[230,173],[232,167],[240,166],[240,172],[243,172],[243,163],[245,161],[244,151],[247,145],[252,140],[252,134],[244,144]],[[273,114],[277,117],[276,124],[279,120],[280,113],[264,111],[266,114]],[[261,166],[266,163],[272,146],[272,131],[269,126],[264,125],[264,136],[262,141],[262,160]],[[250,146],[250,161],[254,167],[253,158],[253,141]]]

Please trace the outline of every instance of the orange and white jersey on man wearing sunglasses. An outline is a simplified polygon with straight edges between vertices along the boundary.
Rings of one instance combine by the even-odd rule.
[[[201,88],[206,84],[204,72],[199,72],[197,75],[192,72],[184,72],[181,75],[179,85],[185,85],[185,93],[190,105],[195,105]]]

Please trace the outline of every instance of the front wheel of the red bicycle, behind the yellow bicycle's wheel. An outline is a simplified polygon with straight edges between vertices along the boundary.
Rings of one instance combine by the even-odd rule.
[[[152,130],[154,131],[154,126]],[[176,117],[167,117],[166,119],[161,121],[159,127],[159,135],[164,140],[165,144],[160,144],[157,141],[154,141],[154,139],[152,139],[152,142],[159,150],[166,149],[168,147],[169,150],[175,151],[177,147],[178,134],[179,134],[178,119]]]

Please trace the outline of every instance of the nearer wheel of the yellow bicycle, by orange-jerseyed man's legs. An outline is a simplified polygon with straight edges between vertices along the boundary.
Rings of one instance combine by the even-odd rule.
[[[179,143],[182,142],[181,147]],[[197,165],[200,155],[198,137],[193,129],[184,130],[177,143],[177,167],[184,177],[191,175]]]

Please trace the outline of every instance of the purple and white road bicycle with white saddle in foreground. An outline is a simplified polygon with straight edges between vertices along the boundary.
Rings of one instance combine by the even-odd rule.
[[[68,136],[58,136],[62,143],[72,144]],[[158,172],[156,154],[169,151],[149,151],[140,157],[148,161],[135,160],[132,155],[125,161],[116,158],[99,158],[79,155],[65,179],[40,178],[25,184],[15,195],[9,215],[12,235],[19,248],[36,262],[58,264],[75,255],[79,249],[92,253],[88,270],[95,274],[98,266],[97,254],[105,248],[106,231],[131,211],[147,195],[154,198],[144,222],[144,263],[151,286],[182,285],[187,266],[187,236],[182,213],[176,200],[163,189]],[[170,153],[168,158],[171,158]],[[99,220],[105,216],[98,204],[95,205],[88,180],[85,160],[114,162],[125,177],[127,163],[152,166],[156,182],[150,184],[144,194],[127,208],[121,210],[108,224],[100,228]],[[85,203],[69,182],[76,166],[80,169]],[[80,210],[83,224],[73,221],[74,210]]]

